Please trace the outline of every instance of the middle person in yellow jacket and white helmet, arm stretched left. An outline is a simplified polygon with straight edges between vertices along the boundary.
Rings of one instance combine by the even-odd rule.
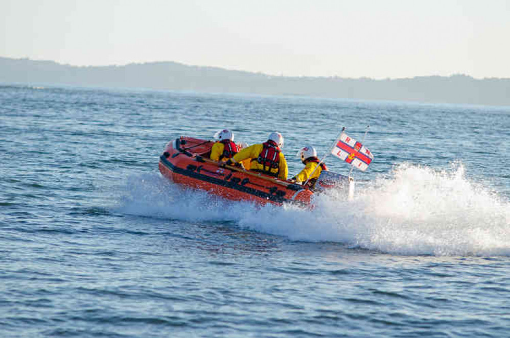
[[[229,159],[226,164],[239,163],[250,160],[250,170],[265,175],[286,180],[289,174],[287,161],[282,153],[283,136],[279,132],[272,132],[266,142],[253,144],[244,148]]]

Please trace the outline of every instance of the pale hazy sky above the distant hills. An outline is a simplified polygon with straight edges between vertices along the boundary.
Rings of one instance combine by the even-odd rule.
[[[510,0],[0,0],[0,56],[510,78]]]

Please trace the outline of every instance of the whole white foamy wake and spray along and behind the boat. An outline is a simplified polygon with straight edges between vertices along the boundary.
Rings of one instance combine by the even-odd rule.
[[[256,206],[184,190],[159,174],[131,176],[115,211],[190,222],[234,222],[241,228],[305,242],[400,255],[510,256],[510,203],[466,178],[412,164],[357,186],[355,200],[339,191],[317,196],[313,210]]]

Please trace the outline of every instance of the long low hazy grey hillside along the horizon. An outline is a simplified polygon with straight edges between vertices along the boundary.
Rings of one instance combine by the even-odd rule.
[[[281,77],[176,62],[77,67],[0,57],[0,82],[510,106],[510,79],[465,75],[396,80]]]

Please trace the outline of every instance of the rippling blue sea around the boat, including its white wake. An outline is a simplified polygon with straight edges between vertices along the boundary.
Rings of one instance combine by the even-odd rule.
[[[157,170],[230,128],[294,175],[367,126],[312,210]],[[0,156],[3,338],[510,336],[510,107],[3,84]]]

